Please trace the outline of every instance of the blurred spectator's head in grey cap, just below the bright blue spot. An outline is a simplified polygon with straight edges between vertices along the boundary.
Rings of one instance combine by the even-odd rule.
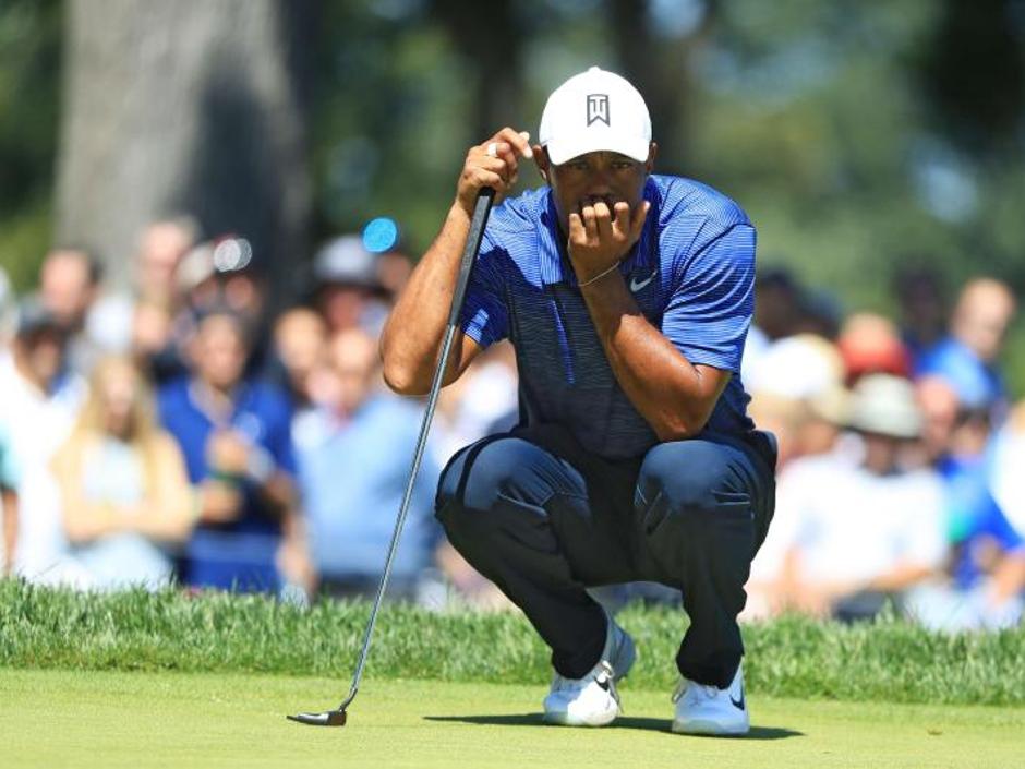
[[[377,259],[358,235],[328,241],[313,257],[314,303],[330,334],[358,326],[371,334],[381,332],[389,292]]]

